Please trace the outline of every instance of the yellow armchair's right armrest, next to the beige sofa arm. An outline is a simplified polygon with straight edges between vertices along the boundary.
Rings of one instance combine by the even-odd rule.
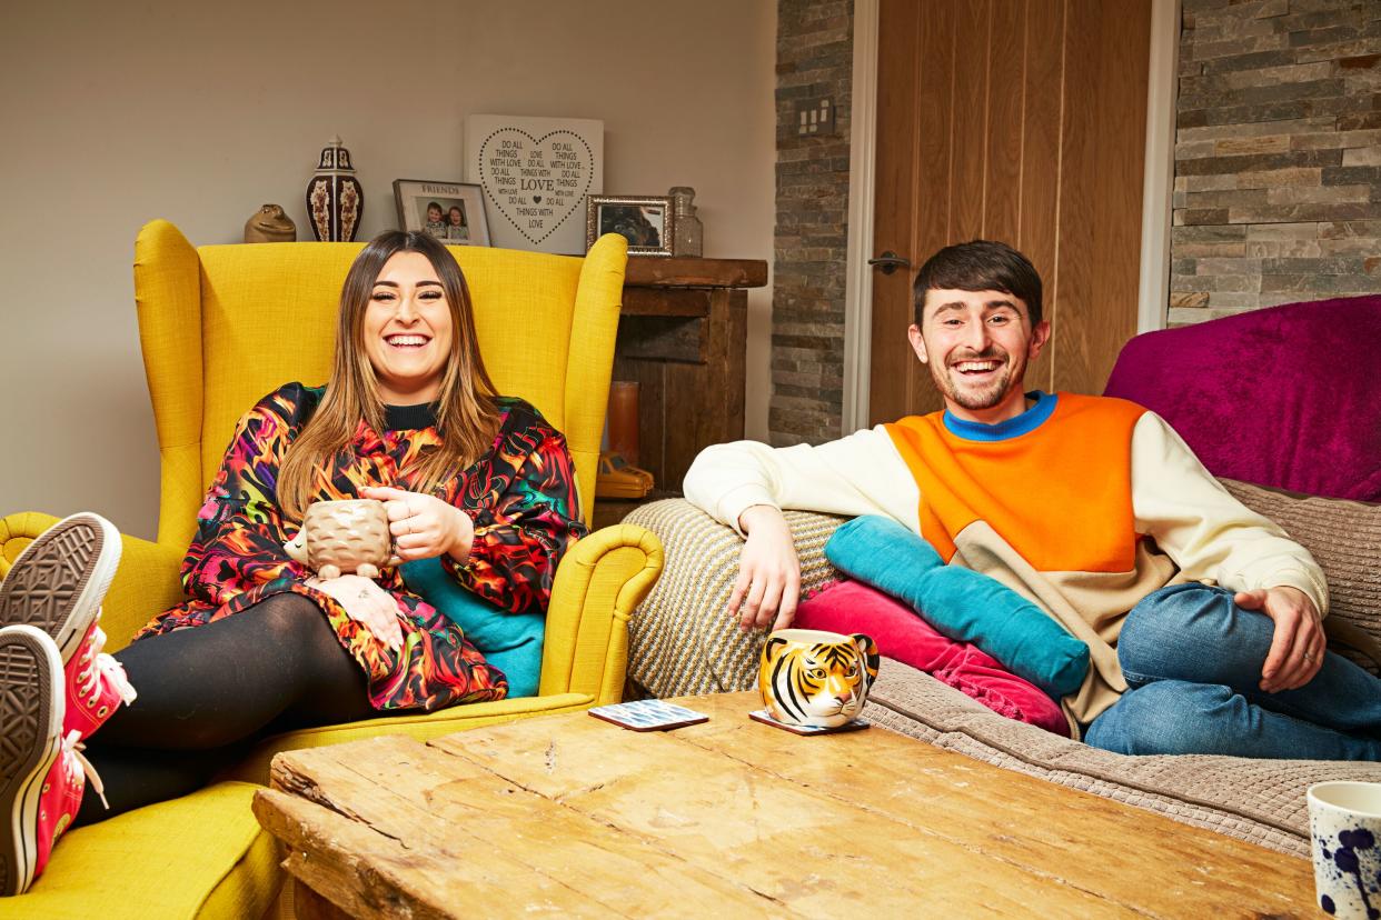
[[[628,617],[660,574],[661,542],[642,527],[616,524],[580,539],[551,588],[539,694],[621,699]]]

